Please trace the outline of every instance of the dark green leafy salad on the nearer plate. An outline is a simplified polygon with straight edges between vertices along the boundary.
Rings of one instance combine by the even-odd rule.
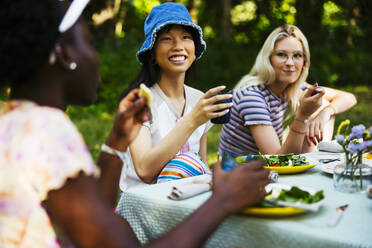
[[[271,192],[268,193],[270,195]],[[304,191],[296,186],[293,186],[289,190],[282,189],[280,191],[279,196],[276,198],[280,201],[286,201],[286,202],[301,202],[304,204],[313,204],[316,203],[322,199],[324,199],[323,190],[317,191],[314,195],[310,194],[307,191]],[[269,201],[262,201],[257,207],[278,207],[274,202]]]

